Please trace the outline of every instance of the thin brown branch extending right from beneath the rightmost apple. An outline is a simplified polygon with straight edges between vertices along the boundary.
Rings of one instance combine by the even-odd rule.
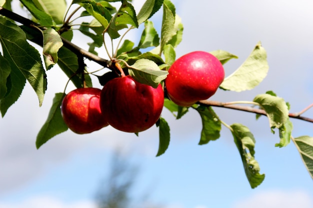
[[[228,108],[228,109],[234,109],[239,111],[245,111],[255,114],[260,114],[266,116],[266,112],[262,109],[258,108],[252,108],[249,106],[241,106],[241,105],[227,105],[226,103],[218,102],[218,101],[212,101],[212,100],[200,100],[197,102],[197,104],[203,105],[203,106],[214,106],[214,107],[221,107],[221,108]],[[289,118],[299,119],[303,121],[307,121],[310,123],[313,123],[313,119],[307,118],[304,116],[297,115],[298,113],[289,113]]]

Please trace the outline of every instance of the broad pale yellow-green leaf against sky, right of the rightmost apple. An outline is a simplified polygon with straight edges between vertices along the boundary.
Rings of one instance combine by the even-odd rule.
[[[253,89],[267,75],[266,57],[265,49],[260,42],[257,43],[249,57],[237,70],[224,79],[220,88],[236,92]]]

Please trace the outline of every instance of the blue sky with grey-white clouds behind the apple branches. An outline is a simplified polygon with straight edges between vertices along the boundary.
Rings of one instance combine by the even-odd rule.
[[[142,2],[134,0],[136,8]],[[227,50],[239,56],[225,64],[227,75],[258,41],[267,51],[269,72],[259,86],[242,93],[219,90],[212,100],[252,100],[256,94],[273,90],[290,102],[291,112],[313,102],[313,2],[173,2],[184,24],[177,57],[193,50]],[[161,21],[160,17],[159,13],[153,20]],[[140,33],[131,33],[129,39]],[[49,86],[41,108],[26,85],[17,103],[0,119],[0,208],[95,208],[96,188],[108,173],[116,148],[140,167],[132,190],[134,197],[148,193],[148,201],[164,208],[247,208],[251,204],[254,208],[313,207],[312,179],[294,145],[275,148],[278,136],[270,133],[267,119],[255,121],[249,113],[214,108],[226,123],[242,123],[254,134],[255,158],[260,172],[266,175],[254,190],[247,183],[227,129],[223,128],[219,140],[197,145],[201,123],[192,110],[180,120],[163,110],[162,116],[171,128],[171,141],[165,154],[157,158],[158,134],[154,127],[139,137],[111,127],[88,135],[67,131],[36,150],[36,134],[46,119],[53,95],[61,92],[67,81],[56,67],[47,75]],[[312,110],[304,115],[313,117]],[[313,136],[311,124],[292,121],[294,137]]]

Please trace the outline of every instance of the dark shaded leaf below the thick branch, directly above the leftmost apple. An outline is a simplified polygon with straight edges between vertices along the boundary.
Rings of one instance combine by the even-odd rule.
[[[77,56],[75,53],[65,48],[64,46],[58,50],[58,66],[62,71],[70,78],[70,81],[75,85],[76,88],[83,87],[82,79],[80,74],[75,74],[78,69]],[[92,86],[90,77],[85,74],[85,81],[88,87]]]

